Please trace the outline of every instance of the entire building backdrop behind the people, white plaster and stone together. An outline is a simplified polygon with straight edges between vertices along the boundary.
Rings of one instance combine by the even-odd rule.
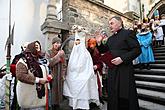
[[[43,50],[50,47],[54,36],[64,41],[73,25],[85,27],[89,35],[98,29],[109,32],[108,19],[122,17],[125,27],[130,28],[134,19],[153,16],[154,10],[164,13],[165,0],[12,0],[12,20],[15,22],[14,45],[11,56],[20,53],[24,42],[39,40]],[[5,63],[5,42],[8,37],[9,0],[0,1],[0,66]]]

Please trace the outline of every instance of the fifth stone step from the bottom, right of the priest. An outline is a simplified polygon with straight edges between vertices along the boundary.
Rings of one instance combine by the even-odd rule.
[[[135,74],[144,74],[144,75],[162,75],[162,76],[165,76],[165,69],[150,69],[150,70],[147,70],[147,69],[134,69],[135,70]]]

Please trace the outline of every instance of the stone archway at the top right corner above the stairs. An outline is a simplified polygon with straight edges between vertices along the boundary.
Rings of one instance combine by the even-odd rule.
[[[165,14],[165,0],[160,0],[156,3],[152,9],[149,11],[148,18],[153,18],[153,13],[155,10],[159,10],[159,15]]]

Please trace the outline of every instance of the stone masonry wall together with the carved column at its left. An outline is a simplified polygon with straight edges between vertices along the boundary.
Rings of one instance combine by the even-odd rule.
[[[62,0],[62,18],[57,19],[55,2],[57,1],[49,0],[47,18],[41,26],[45,35],[46,50],[50,47],[53,36],[60,35],[63,41],[72,36],[70,30],[73,25],[85,27],[91,37],[100,29],[111,35],[108,20],[114,15],[122,17],[126,28],[130,28],[134,20],[133,17],[117,11],[105,5],[105,1],[99,0]],[[66,50],[68,48],[70,48],[69,44],[66,45]],[[67,51],[66,53],[69,54]]]

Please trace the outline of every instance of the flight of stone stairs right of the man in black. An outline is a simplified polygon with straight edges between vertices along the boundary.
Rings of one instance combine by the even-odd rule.
[[[154,48],[151,69],[135,66],[136,86],[141,110],[165,110],[165,45]]]

